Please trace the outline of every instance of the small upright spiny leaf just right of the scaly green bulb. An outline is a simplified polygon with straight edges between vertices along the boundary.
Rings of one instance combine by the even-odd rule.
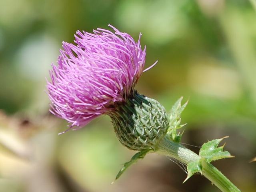
[[[180,116],[182,111],[185,109],[185,107],[188,104],[188,102],[186,102],[185,104],[181,105],[182,99],[183,97],[178,99],[178,101],[176,101],[176,103],[172,106],[172,109],[170,111],[169,128],[167,132],[167,134],[170,135],[172,140],[178,143],[181,140],[182,134],[177,133],[177,129],[180,129],[186,125],[186,124],[180,124],[181,122]]]

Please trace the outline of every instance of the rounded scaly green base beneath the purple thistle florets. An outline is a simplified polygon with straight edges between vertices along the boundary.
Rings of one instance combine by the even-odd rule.
[[[156,100],[134,92],[109,116],[118,140],[131,150],[154,149],[168,129],[168,115]]]

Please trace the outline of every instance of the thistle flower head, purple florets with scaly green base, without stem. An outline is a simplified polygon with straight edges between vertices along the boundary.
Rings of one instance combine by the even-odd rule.
[[[134,89],[143,72],[146,47],[142,50],[140,46],[141,34],[135,42],[129,34],[110,27],[114,33],[99,28],[94,34],[77,31],[75,44],[62,43],[58,65],[52,64],[50,71],[52,81],[47,82],[50,111],[70,122],[70,128],[83,127],[108,114],[122,144],[134,150],[148,148],[148,136],[152,146],[166,132],[168,121],[165,109],[157,101],[140,96]],[[162,122],[152,121],[150,110],[166,118],[163,129]],[[138,143],[139,147],[133,147]]]

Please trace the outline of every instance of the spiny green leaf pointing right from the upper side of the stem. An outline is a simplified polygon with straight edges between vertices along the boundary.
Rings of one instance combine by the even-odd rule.
[[[214,160],[219,160],[223,158],[231,158],[228,151],[223,151],[224,145],[218,147],[218,144],[224,139],[228,137],[223,137],[221,139],[214,139],[202,145],[199,156],[204,158],[207,162],[212,162]]]

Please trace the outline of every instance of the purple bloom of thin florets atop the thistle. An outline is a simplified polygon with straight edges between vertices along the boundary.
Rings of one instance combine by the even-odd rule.
[[[109,26],[114,33],[99,28],[93,34],[77,31],[76,44],[63,42],[58,65],[52,64],[52,81],[47,82],[50,111],[70,122],[70,128],[111,112],[114,102],[125,102],[142,75],[146,47],[141,49],[141,34],[135,42]]]

